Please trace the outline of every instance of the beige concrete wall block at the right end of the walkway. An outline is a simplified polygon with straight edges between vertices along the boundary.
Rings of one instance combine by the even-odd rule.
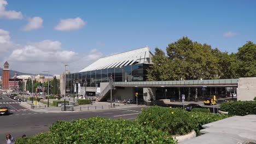
[[[253,100],[256,97],[256,77],[241,77],[237,86],[237,100]]]

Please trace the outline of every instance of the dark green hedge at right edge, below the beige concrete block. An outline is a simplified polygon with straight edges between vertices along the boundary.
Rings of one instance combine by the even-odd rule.
[[[222,111],[229,115],[245,116],[256,115],[256,101],[231,101],[220,105]]]

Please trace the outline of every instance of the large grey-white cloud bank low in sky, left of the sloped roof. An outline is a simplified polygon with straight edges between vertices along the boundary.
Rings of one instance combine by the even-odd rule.
[[[59,41],[44,40],[35,44],[25,45],[14,50],[9,56],[10,61],[16,62],[69,62],[77,56],[73,51],[61,48]]]

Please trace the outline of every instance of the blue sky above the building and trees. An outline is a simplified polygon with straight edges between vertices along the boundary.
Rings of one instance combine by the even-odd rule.
[[[228,52],[237,52],[238,47],[248,40],[256,43],[256,1],[7,2],[5,11],[22,13],[20,19],[7,19],[1,18],[0,10],[0,29],[9,32],[11,43],[19,45],[17,47],[22,50],[44,40],[58,41],[61,43],[60,51],[75,53],[66,61],[72,71],[83,69],[98,57],[146,45],[152,52],[155,47],[165,50],[168,44],[183,36]],[[32,17],[40,17],[43,22],[39,28],[25,31],[24,27]],[[56,30],[61,20],[77,17],[84,22],[83,26],[68,31]],[[0,53],[3,56],[0,60],[11,61],[15,70],[39,73],[36,67],[18,67],[21,61],[24,65],[35,63],[31,61],[33,57],[15,58],[19,56],[15,50]],[[42,57],[43,54],[49,53],[42,53]],[[81,61],[82,58],[88,60]],[[51,65],[49,69],[53,73],[61,73],[63,69],[61,60],[37,63],[42,67]]]

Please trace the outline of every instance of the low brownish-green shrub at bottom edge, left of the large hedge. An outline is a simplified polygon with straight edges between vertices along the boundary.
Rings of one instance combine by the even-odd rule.
[[[23,137],[15,140],[16,144],[48,144],[54,143],[53,139],[51,138],[51,133],[41,133],[35,136],[30,137]]]

